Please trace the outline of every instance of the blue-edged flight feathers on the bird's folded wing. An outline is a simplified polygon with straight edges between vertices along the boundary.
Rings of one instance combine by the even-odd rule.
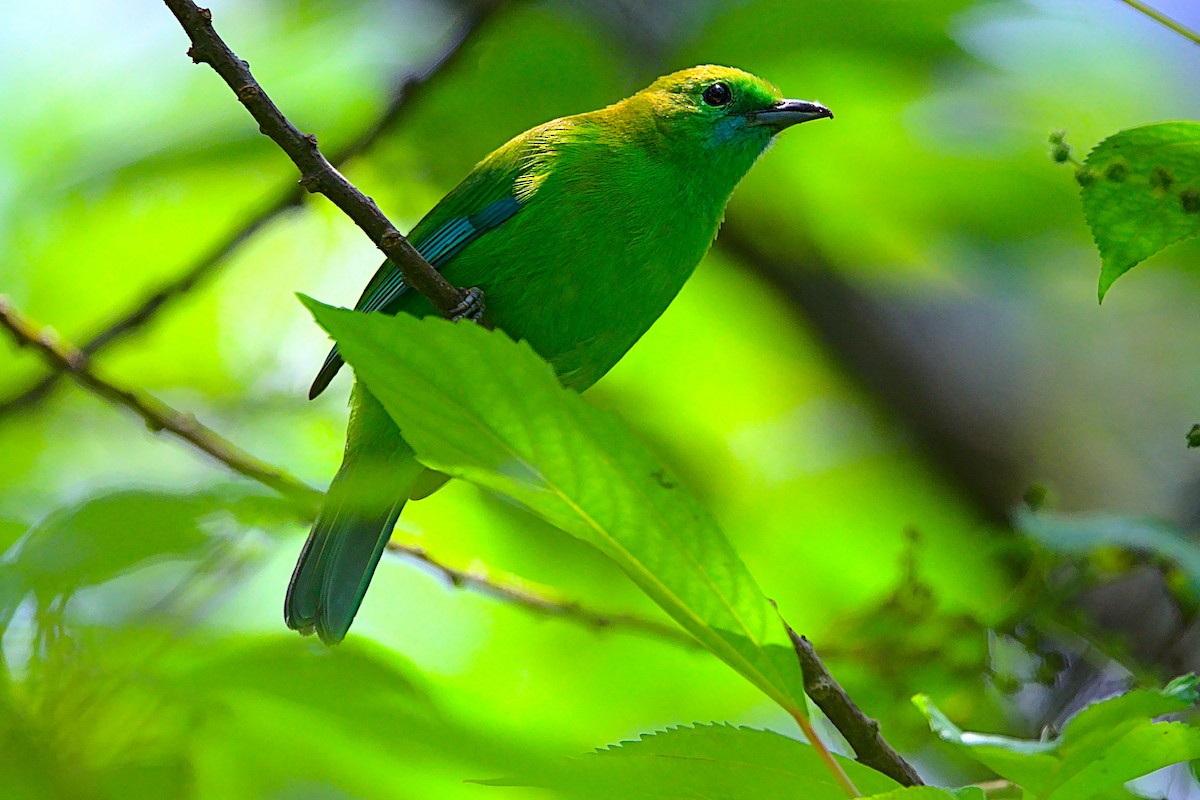
[[[434,270],[442,270],[443,265],[457,255],[462,249],[490,230],[494,230],[505,219],[511,217],[521,207],[521,201],[508,196],[499,200],[488,203],[482,209],[464,217],[454,217],[433,231],[427,239],[416,245],[416,252],[430,263]],[[386,313],[403,294],[408,290],[404,276],[391,260],[383,263],[379,271],[367,284],[359,297],[355,311],[372,312],[383,311]],[[395,313],[395,312],[392,312]],[[325,356],[325,363],[317,373],[317,379],[312,381],[308,390],[308,399],[312,399],[325,390],[325,386],[334,379],[337,371],[342,368],[342,356],[337,353],[337,345]]]

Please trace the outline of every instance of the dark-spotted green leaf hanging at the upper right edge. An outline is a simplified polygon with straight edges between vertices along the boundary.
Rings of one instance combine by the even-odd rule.
[[[1099,296],[1168,245],[1200,234],[1200,122],[1156,122],[1109,137],[1079,180],[1100,248]]]

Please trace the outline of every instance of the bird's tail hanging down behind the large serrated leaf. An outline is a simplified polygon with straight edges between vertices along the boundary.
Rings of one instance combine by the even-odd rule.
[[[346,457],[292,572],[288,627],[337,644],[354,621],[391,529],[425,468],[378,401],[355,390]]]

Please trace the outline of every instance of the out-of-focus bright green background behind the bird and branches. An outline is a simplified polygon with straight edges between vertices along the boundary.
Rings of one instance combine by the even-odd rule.
[[[326,150],[371,126],[464,10],[212,5]],[[1157,5],[1200,25],[1190,0]],[[96,333],[293,185],[164,7],[7,4],[5,20],[0,291],[66,337]],[[1086,149],[1200,118],[1200,52],[1094,0],[512,0],[344,172],[406,229],[511,136],[697,62],[838,119],[762,160],[710,257],[592,402],[684,476],[931,776],[972,777],[914,692],[973,729],[1037,735],[1114,687],[1200,667],[1200,470],[1184,447],[1200,245],[1156,255],[1097,307],[1078,187],[1046,157],[1054,130]],[[324,486],[348,381],[305,401],[326,344],[293,293],[350,305],[378,261],[308,198],[97,362]],[[0,348],[4,392],[41,374],[35,354]],[[344,646],[289,636],[305,527],[73,386],[6,409],[0,453],[0,759],[17,796],[517,796],[464,781],[679,722],[790,730],[698,651],[539,616],[396,558]],[[1031,485],[1056,513],[1104,516],[1014,527]],[[467,486],[412,506],[397,537],[656,614],[600,555]]]

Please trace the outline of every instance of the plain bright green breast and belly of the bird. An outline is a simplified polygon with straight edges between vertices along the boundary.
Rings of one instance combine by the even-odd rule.
[[[653,158],[563,164],[446,276],[482,287],[493,324],[528,341],[564,383],[582,390],[679,293],[712,243],[726,199],[704,197]]]

